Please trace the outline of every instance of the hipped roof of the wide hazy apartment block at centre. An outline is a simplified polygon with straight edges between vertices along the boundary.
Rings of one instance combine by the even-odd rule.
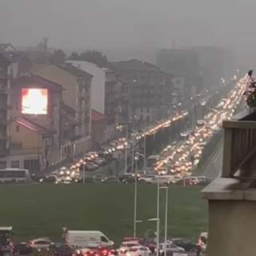
[[[131,59],[125,62],[110,62],[110,68],[117,71],[160,71],[157,66],[147,62],[141,62],[137,59]]]

